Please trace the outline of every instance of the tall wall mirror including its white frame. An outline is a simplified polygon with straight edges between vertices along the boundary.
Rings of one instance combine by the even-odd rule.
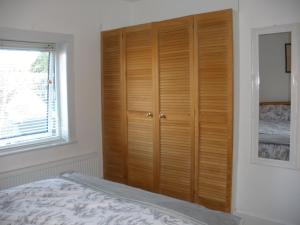
[[[294,64],[299,61],[298,38],[298,25],[252,32],[254,162],[296,166],[299,68]]]

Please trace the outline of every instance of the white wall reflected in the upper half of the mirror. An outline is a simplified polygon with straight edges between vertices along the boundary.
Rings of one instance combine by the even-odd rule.
[[[290,101],[291,74],[285,71],[285,44],[291,33],[259,36],[259,101]]]

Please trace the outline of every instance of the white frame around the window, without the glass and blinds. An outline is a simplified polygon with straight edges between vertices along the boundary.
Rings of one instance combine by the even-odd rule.
[[[57,74],[57,101],[61,134],[60,138],[3,146],[0,148],[0,155],[74,143],[76,138],[74,123],[73,35],[0,27],[1,39],[16,42],[55,44],[55,73]]]

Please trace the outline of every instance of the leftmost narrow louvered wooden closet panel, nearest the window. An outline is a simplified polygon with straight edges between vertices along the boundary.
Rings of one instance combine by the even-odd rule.
[[[120,31],[102,33],[102,140],[104,178],[125,183],[121,41]]]

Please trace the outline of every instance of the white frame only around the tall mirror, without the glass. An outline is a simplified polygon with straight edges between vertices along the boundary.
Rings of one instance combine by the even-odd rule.
[[[265,159],[258,157],[258,128],[259,128],[259,35],[273,33],[291,33],[292,68],[291,68],[291,135],[289,161]],[[300,111],[298,107],[300,88],[300,24],[275,25],[271,27],[252,29],[252,72],[251,72],[251,162],[266,166],[276,166],[289,169],[300,167]]]

